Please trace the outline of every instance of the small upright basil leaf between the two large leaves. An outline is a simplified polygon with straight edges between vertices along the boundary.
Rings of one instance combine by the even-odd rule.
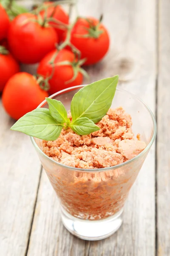
[[[45,98],[48,106],[51,116],[57,120],[58,123],[64,123],[67,122],[67,111],[64,107],[64,105],[56,99],[50,99]]]

